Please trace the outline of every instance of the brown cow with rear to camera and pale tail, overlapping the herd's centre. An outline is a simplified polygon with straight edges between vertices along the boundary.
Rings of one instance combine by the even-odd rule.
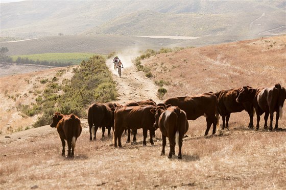
[[[165,154],[166,137],[168,137],[170,142],[168,158],[175,154],[175,145],[178,144],[178,159],[182,159],[183,137],[188,130],[186,113],[178,106],[169,106],[166,110],[156,107],[156,110],[152,109],[151,112],[155,113],[155,130],[159,127],[162,133],[161,155]]]

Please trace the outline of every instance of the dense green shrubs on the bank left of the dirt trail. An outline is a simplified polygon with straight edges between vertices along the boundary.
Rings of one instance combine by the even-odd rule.
[[[106,59],[98,55],[88,61],[82,61],[79,67],[74,68],[74,76],[69,81],[63,80],[61,85],[56,83],[57,77],[54,77],[55,81],[53,81],[54,78],[52,81],[42,79],[41,83],[47,83],[47,86],[44,92],[36,98],[36,104],[30,108],[31,110],[36,108],[35,113],[37,110],[42,113],[34,127],[49,124],[56,111],[85,117],[87,107],[92,102],[104,103],[116,100],[118,95],[115,83],[105,62]],[[59,91],[64,93],[58,95]],[[31,116],[32,113],[28,111],[27,115]]]

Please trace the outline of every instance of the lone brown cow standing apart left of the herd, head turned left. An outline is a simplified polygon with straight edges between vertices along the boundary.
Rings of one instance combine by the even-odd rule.
[[[57,127],[60,139],[62,141],[62,156],[65,156],[65,140],[67,142],[67,157],[74,157],[76,141],[81,134],[82,127],[80,119],[74,115],[63,115],[56,112],[53,115],[51,127]]]

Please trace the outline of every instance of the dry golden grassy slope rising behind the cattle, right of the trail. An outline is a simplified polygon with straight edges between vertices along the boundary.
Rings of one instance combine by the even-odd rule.
[[[165,53],[143,61],[155,80],[171,83],[165,98],[242,86],[286,86],[286,36]],[[170,78],[169,75],[172,74]]]

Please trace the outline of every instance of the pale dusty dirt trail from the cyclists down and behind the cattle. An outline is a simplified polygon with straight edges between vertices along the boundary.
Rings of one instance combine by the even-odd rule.
[[[153,99],[155,102],[159,102],[159,99],[156,96],[157,88],[152,79],[144,76],[143,72],[137,72],[134,64],[132,64],[131,60],[134,59],[135,56],[130,56],[128,53],[122,53],[118,54],[118,57],[124,65],[121,78],[113,68],[112,59],[107,60],[107,66],[113,73],[112,76],[116,82],[119,94],[119,98],[116,102],[123,104],[129,101],[145,99]],[[81,119],[81,122],[84,131],[87,132],[87,118]],[[29,140],[29,138],[45,137],[46,135],[55,133],[57,133],[57,131],[54,128],[51,128],[50,125],[45,125],[38,128],[14,132],[12,134],[3,134],[0,135],[0,145],[5,146],[5,144]]]

